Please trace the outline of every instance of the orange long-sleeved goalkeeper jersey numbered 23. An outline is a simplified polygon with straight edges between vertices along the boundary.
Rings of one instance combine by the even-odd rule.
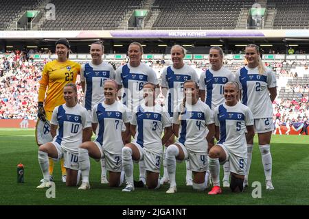
[[[45,64],[38,90],[38,102],[44,102],[45,111],[53,111],[56,106],[65,103],[63,88],[67,83],[76,83],[79,73],[80,64],[70,60],[54,60]]]

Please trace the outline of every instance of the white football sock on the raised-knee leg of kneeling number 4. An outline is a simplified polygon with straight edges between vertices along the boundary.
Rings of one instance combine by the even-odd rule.
[[[178,146],[171,144],[166,150],[166,164],[168,176],[170,177],[170,187],[176,186],[176,157],[179,155]]]

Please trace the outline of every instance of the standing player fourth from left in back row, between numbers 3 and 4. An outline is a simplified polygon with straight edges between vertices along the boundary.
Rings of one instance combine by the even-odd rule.
[[[170,117],[173,116],[173,112],[176,112],[177,105],[179,105],[183,100],[183,83],[187,80],[194,80],[196,83],[198,83],[198,75],[196,74],[196,71],[183,62],[183,58],[185,57],[186,52],[187,51],[185,48],[181,47],[180,45],[174,45],[170,50],[173,64],[167,68],[164,68],[162,72],[161,88],[163,96],[165,97],[167,96],[168,91],[168,98],[165,98],[165,106],[168,107],[168,113],[170,114]],[[168,103],[166,103],[166,101],[168,101]],[[174,143],[174,138],[175,136],[172,135],[164,147],[164,174],[163,178],[161,179],[161,184],[167,183],[169,181],[168,171],[166,170],[166,147]],[[187,185],[192,185],[192,171],[190,170],[188,160],[185,161],[185,165],[187,169],[187,174],[185,177],[186,183]]]

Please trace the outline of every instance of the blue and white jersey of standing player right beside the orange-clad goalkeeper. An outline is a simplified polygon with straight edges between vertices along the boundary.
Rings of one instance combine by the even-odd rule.
[[[88,62],[82,65],[80,70],[80,81],[85,81],[84,99],[82,105],[87,110],[104,101],[104,81],[115,79],[115,70],[111,64],[102,62],[99,65]]]

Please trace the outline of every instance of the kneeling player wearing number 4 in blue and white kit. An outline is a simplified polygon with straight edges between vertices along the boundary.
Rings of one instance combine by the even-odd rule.
[[[183,84],[185,97],[179,109],[174,112],[173,131],[178,142],[168,146],[166,162],[170,188],[166,193],[175,193],[176,188],[176,159],[189,159],[193,173],[195,190],[207,188],[209,172],[207,172],[207,142],[214,138],[214,115],[210,108],[198,100],[198,83],[193,80]],[[206,127],[209,132],[206,133]],[[207,136],[206,136],[207,135]],[[206,137],[206,138],[205,138]]]

